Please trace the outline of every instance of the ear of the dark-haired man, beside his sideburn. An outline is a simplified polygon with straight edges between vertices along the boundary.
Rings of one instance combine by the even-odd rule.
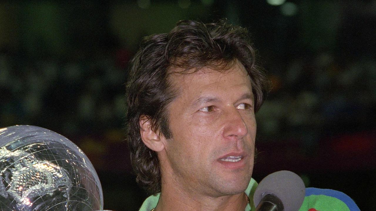
[[[160,152],[164,149],[161,139],[164,137],[159,135],[159,131],[153,131],[150,118],[143,115],[139,119],[141,139],[144,144],[151,150]]]

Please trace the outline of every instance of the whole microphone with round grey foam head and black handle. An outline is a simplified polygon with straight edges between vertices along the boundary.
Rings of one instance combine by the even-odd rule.
[[[266,176],[253,195],[256,211],[298,211],[305,197],[303,180],[294,172]]]

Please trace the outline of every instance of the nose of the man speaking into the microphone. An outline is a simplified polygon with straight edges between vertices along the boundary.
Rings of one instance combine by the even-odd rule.
[[[225,127],[223,130],[223,137],[226,139],[241,139],[248,133],[246,122],[240,112],[236,109],[230,109],[226,112]]]

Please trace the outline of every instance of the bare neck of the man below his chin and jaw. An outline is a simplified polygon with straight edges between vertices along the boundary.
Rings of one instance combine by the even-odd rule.
[[[180,191],[163,191],[155,211],[244,211],[248,196],[245,193],[208,197]]]

